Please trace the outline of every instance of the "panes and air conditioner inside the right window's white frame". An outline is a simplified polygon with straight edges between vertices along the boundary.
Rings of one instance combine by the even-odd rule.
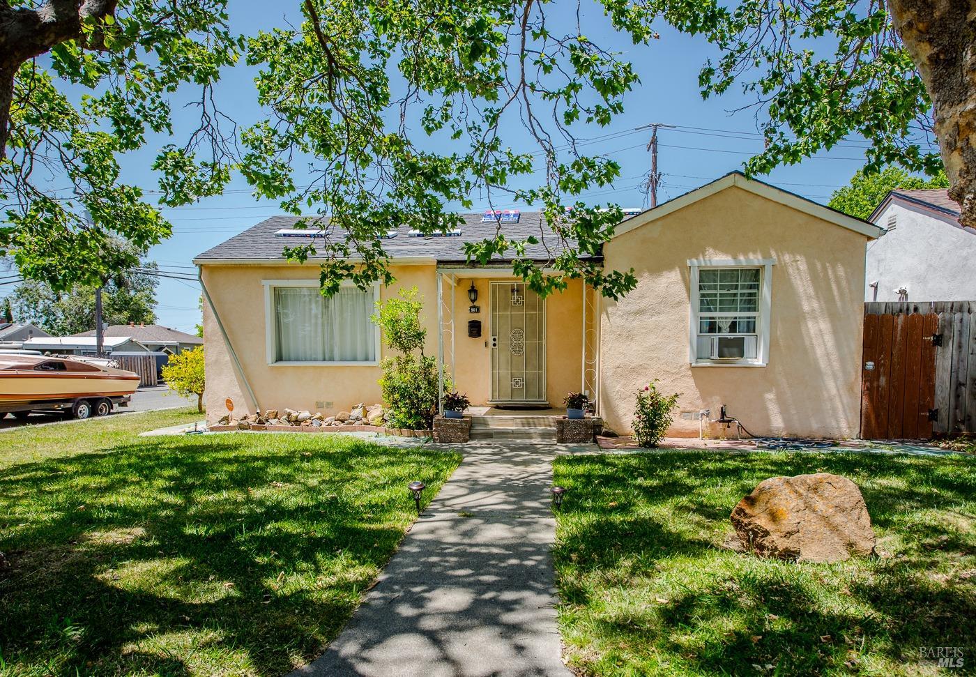
[[[695,309],[698,361],[756,359],[761,270],[700,268]]]

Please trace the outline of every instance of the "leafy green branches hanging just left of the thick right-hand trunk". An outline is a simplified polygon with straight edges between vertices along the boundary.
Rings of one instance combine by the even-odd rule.
[[[736,82],[755,96],[765,149],[746,163],[748,174],[798,163],[850,135],[871,141],[869,172],[892,163],[930,176],[940,170],[928,143],[931,101],[883,3],[660,5],[674,27],[705,33],[721,51],[699,73],[703,97]],[[695,18],[700,10],[708,20]]]

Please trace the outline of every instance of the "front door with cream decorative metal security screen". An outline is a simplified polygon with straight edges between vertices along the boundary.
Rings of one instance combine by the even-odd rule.
[[[491,402],[546,403],[546,301],[523,282],[491,283]]]

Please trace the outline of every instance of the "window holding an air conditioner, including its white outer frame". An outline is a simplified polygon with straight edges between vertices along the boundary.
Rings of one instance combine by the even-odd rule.
[[[692,365],[765,366],[775,259],[691,259]]]

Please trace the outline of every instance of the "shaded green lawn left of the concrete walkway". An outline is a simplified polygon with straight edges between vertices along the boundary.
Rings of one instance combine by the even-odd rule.
[[[282,674],[336,637],[392,555],[415,516],[407,483],[429,499],[460,461],[125,430],[192,419],[0,433],[6,462],[41,458],[0,470],[0,674]]]

